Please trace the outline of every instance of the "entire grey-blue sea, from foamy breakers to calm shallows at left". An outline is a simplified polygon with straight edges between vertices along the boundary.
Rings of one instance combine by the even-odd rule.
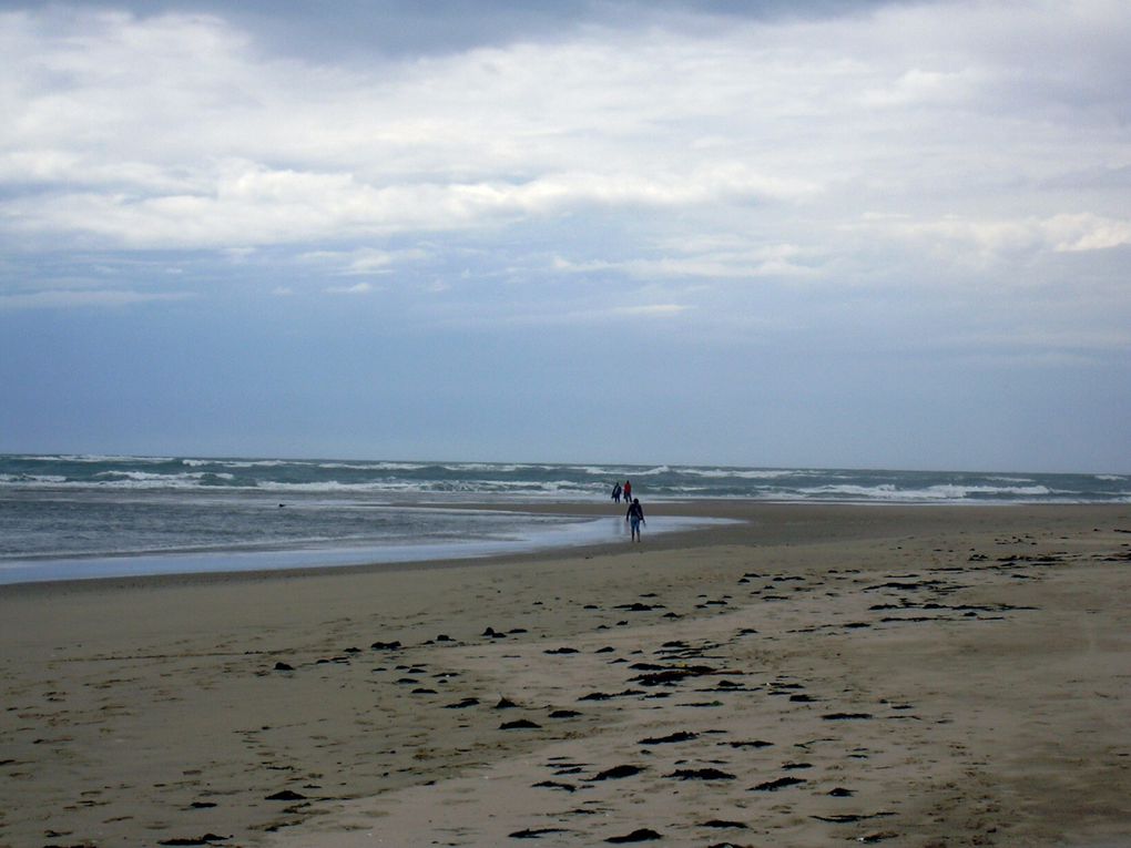
[[[469,502],[1128,503],[1131,476],[0,455],[0,583],[405,562],[615,540],[608,518]],[[428,509],[422,507],[426,505]],[[657,517],[649,533],[696,519]]]

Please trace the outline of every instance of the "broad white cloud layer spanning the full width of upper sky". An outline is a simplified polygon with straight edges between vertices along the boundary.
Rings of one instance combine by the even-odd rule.
[[[553,37],[370,61],[277,50],[250,28],[266,7],[200,8],[0,14],[0,240],[374,276],[442,234],[437,267],[473,250],[478,278],[556,253],[720,283],[1128,242],[1125,187],[1096,176],[1131,167],[1110,0],[575,9]]]

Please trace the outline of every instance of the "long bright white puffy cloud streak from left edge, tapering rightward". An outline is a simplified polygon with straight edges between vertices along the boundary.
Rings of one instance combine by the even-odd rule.
[[[111,246],[228,248],[353,235],[466,230],[570,209],[658,208],[800,197],[804,181],[741,166],[661,175],[547,174],[521,183],[375,188],[345,173],[268,171],[230,163],[196,193],[41,193],[6,205],[12,231],[83,234]]]

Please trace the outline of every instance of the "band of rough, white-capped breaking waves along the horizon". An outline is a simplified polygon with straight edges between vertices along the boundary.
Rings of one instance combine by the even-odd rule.
[[[171,492],[334,493],[359,499],[413,495],[470,500],[607,499],[631,479],[644,501],[688,497],[864,503],[1126,502],[1131,477],[1116,474],[958,474],[726,466],[616,466],[534,462],[0,456],[5,490],[169,490]]]

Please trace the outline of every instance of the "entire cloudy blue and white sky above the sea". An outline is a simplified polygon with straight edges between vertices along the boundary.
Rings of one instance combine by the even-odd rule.
[[[1123,0],[0,0],[0,452],[1131,471]]]

